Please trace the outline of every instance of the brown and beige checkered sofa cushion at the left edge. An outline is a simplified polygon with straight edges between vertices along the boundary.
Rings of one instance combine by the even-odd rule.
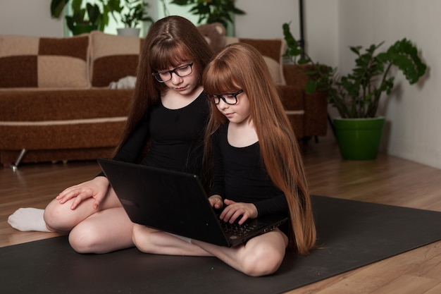
[[[88,35],[0,35],[0,87],[88,88],[88,49]]]

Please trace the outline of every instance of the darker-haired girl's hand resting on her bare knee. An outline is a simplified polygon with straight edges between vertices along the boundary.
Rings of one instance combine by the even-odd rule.
[[[84,183],[73,185],[72,187],[63,190],[63,192],[58,194],[56,200],[58,200],[60,204],[65,204],[69,200],[75,198],[72,204],[70,204],[70,209],[75,209],[83,200],[94,197],[95,201],[93,203],[93,207],[94,209],[97,209],[98,205],[104,199],[107,190],[107,178],[104,176],[98,176],[93,180],[87,180]]]

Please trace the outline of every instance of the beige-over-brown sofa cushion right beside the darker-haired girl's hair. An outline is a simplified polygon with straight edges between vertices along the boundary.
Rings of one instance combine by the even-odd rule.
[[[111,82],[136,76],[143,39],[139,37],[90,33],[92,87],[108,87]]]

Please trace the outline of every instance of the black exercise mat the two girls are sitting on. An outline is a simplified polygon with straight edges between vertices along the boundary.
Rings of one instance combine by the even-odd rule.
[[[0,248],[1,293],[284,293],[441,239],[441,212],[313,196],[318,243],[251,278],[216,258],[132,248],[80,255],[66,236]]]

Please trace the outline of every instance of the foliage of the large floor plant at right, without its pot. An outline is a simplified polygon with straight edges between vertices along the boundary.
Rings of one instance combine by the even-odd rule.
[[[337,68],[315,63],[299,47],[290,32],[289,24],[282,25],[287,42],[286,56],[292,57],[297,64],[311,63],[313,70],[306,83],[306,92],[316,90],[328,93],[328,102],[335,106],[342,118],[372,118],[378,111],[381,94],[390,94],[395,78],[390,77],[390,69],[395,66],[402,71],[410,85],[426,73],[426,64],[418,56],[418,50],[410,40],[404,38],[392,44],[386,51],[375,52],[383,45],[372,44],[363,49],[361,46],[349,47],[356,54],[355,66],[347,75],[337,75]],[[304,58],[297,60],[298,56]]]

